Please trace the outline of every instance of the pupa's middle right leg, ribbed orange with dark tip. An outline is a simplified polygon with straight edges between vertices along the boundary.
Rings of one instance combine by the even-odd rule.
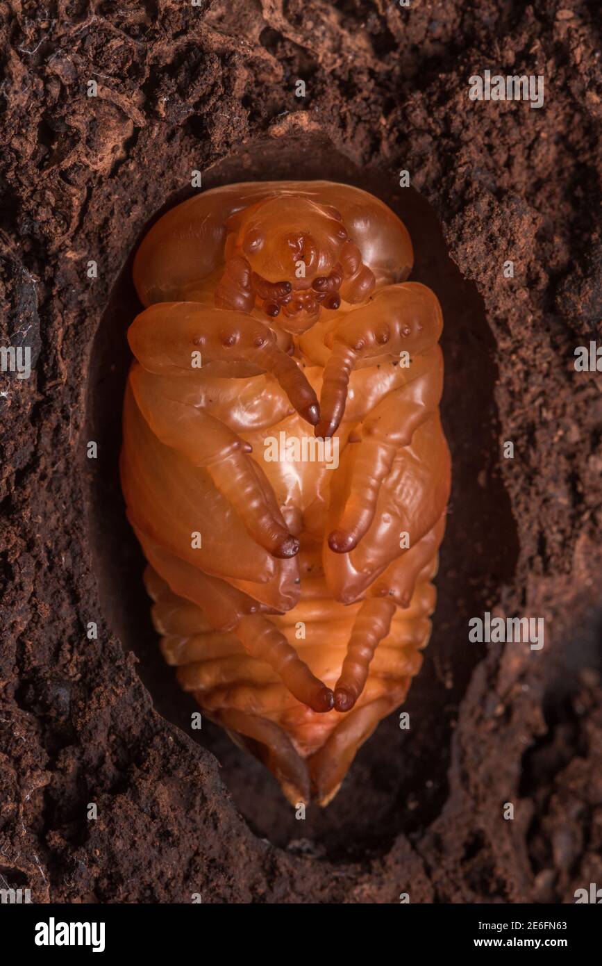
[[[439,405],[443,388],[439,346],[433,346],[420,359],[427,366],[423,374],[386,396],[362,423],[359,443],[350,443],[353,466],[345,487],[348,497],[328,536],[328,545],[337,554],[353,550],[367,533],[380,487],[391,472],[397,450],[410,444],[415,431]],[[335,485],[334,497],[339,496],[338,489]]]

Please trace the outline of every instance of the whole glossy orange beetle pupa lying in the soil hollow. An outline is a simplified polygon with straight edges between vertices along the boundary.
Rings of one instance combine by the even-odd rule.
[[[293,804],[326,805],[404,699],[450,457],[442,314],[367,192],[215,188],[142,242],[127,514],[166,661]]]

